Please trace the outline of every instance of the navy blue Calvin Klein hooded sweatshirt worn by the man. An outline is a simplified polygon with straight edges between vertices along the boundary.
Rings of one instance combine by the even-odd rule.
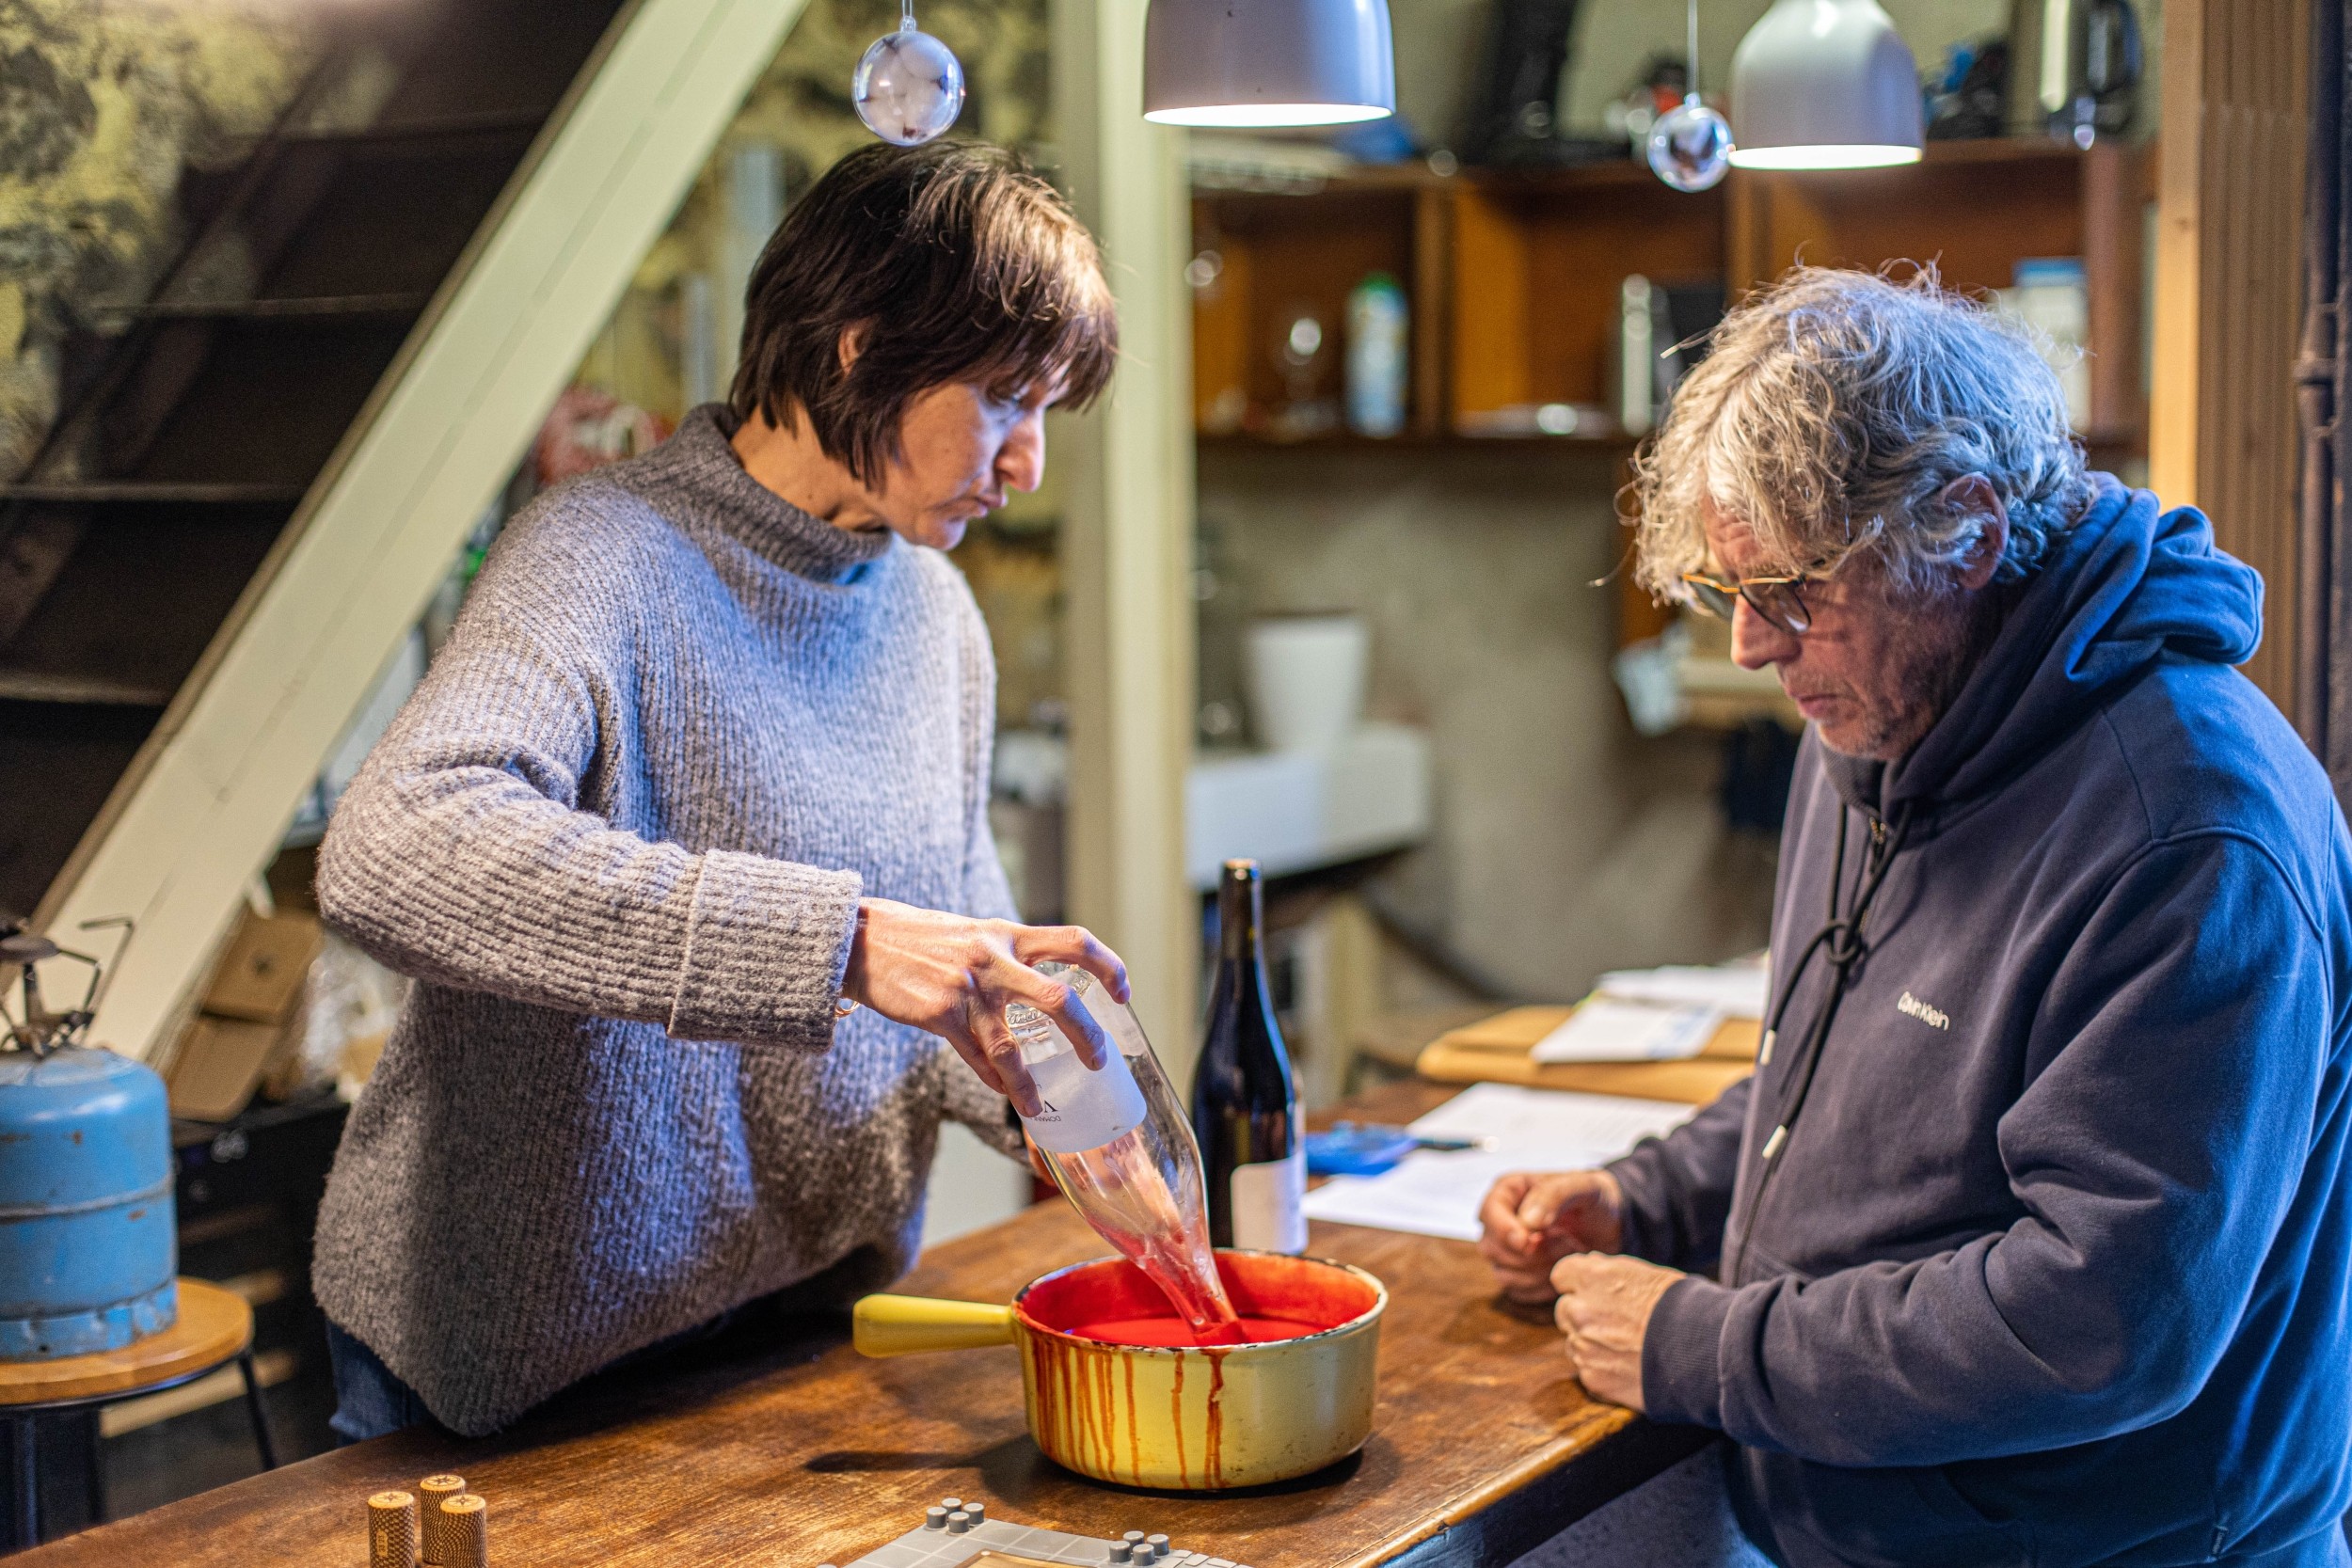
[[[1740,1443],[1783,1563],[2345,1561],[2352,844],[2232,670],[2260,602],[2100,477],[1910,757],[1804,741],[1773,1051],[1613,1166],[1625,1251],[1691,1269],[1644,1403]]]

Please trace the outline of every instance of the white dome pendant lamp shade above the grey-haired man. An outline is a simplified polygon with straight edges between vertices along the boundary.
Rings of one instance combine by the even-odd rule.
[[[1776,0],[1731,56],[1743,169],[1919,162],[1919,63],[1877,0]]]

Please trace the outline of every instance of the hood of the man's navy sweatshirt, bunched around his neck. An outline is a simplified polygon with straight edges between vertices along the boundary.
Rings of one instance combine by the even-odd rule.
[[[2093,475],[2089,510],[2058,536],[1952,710],[1896,764],[1823,750],[1849,804],[1983,795],[2072,733],[2161,658],[2239,665],[2263,639],[2263,578],[2213,545],[2194,508]]]

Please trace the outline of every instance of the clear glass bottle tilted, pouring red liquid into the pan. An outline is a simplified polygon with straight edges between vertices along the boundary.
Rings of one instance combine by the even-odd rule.
[[[1004,1009],[1044,1100],[1044,1112],[1021,1126],[1070,1206],[1167,1293],[1197,1340],[1240,1342],[1209,1248],[1200,1147],[1143,1025],[1084,969],[1037,969],[1077,992],[1115,1051],[1087,1067],[1051,1018],[1025,1004]]]

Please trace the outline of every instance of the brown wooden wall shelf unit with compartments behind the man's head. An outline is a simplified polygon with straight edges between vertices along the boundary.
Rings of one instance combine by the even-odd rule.
[[[2122,143],[2082,153],[2060,141],[1938,141],[1905,169],[1736,169],[1698,195],[1635,162],[1454,176],[1371,169],[1298,195],[1202,190],[1195,249],[1214,249],[1223,266],[1195,289],[1195,416],[1204,440],[1272,444],[1258,433],[1284,397],[1275,355],[1301,308],[1327,334],[1312,395],[1338,397],[1345,296],[1374,270],[1406,289],[1406,428],[1432,442],[1454,440],[1463,414],[1606,402],[1630,273],[1668,284],[1719,277],[1736,299],[1799,259],[1924,261],[1952,287],[1997,289],[2018,261],[2082,256],[2093,407],[2084,440],[2100,461],[2145,454],[2140,256],[2152,165],[2152,148]],[[1247,400],[1244,428],[1211,430],[1211,409],[1232,402],[1228,388]]]

